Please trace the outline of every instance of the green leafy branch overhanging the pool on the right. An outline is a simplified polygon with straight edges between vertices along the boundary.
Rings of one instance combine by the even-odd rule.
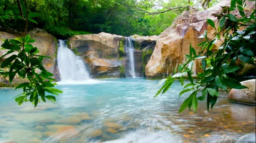
[[[247,88],[242,86],[237,79],[232,78],[232,74],[240,69],[236,65],[237,60],[255,65],[255,10],[249,15],[245,13],[245,6],[246,1],[244,0],[231,0],[230,7],[223,7],[222,12],[216,14],[219,26],[216,26],[213,20],[207,19],[208,25],[216,30],[216,35],[213,38],[208,38],[207,31],[205,31],[203,35],[199,36],[199,38],[205,38],[205,41],[198,45],[201,47],[198,53],[190,45],[186,62],[178,66],[179,73],[161,80],[159,84],[165,84],[155,97],[160,93],[165,93],[171,87],[175,77],[180,77],[181,85],[183,85],[183,77],[187,76],[190,83],[184,86],[184,90],[180,92],[179,96],[186,92],[192,93],[183,102],[179,112],[187,107],[189,109],[192,107],[194,111],[197,111],[198,100],[205,98],[209,111],[209,107],[213,108],[217,101],[219,88],[223,90],[227,90],[228,87]],[[240,13],[240,18],[231,13],[234,10]],[[238,31],[242,26],[246,26],[246,28],[243,31]],[[222,41],[222,44],[216,51],[213,47],[218,40]],[[199,59],[203,72],[197,74],[198,80],[194,81],[191,76],[193,74],[192,66],[194,61]]]

